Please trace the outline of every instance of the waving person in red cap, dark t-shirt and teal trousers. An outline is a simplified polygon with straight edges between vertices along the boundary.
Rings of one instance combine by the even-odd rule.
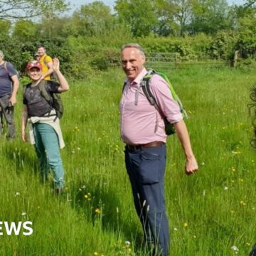
[[[57,112],[53,107],[53,101],[46,100],[43,91],[52,99],[53,93],[66,92],[69,85],[60,72],[60,63],[53,59],[53,71],[59,82],[42,79],[42,66],[36,61],[30,61],[26,66],[31,83],[26,85],[23,91],[23,117],[21,134],[23,142],[26,142],[26,124],[29,124],[29,138],[31,144],[35,144],[36,154],[40,163],[40,174],[43,183],[48,178],[48,171],[53,171],[55,193],[63,191],[64,169],[60,157],[60,149],[65,144],[60,129]],[[53,99],[52,99],[53,100]]]

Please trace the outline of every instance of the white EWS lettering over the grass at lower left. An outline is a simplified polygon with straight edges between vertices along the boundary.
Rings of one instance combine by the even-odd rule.
[[[31,221],[18,221],[18,223],[0,221],[0,235],[32,235],[32,225]]]

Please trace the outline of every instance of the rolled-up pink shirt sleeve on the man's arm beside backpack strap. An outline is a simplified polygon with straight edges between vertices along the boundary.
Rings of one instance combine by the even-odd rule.
[[[171,95],[171,90],[167,82],[159,75],[153,75],[149,82],[150,90],[156,99],[161,114],[168,119],[171,124],[183,119],[178,102]]]

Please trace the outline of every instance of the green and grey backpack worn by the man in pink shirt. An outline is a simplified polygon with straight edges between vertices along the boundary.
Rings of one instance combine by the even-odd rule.
[[[151,79],[151,77],[153,75],[160,75],[161,78],[164,78],[164,80],[167,82],[167,84],[169,85],[169,88],[171,90],[171,95],[174,98],[174,100],[176,102],[178,102],[178,105],[180,107],[181,110],[181,114],[183,115],[183,117],[188,117],[188,114],[186,113],[186,110],[183,109],[183,105],[181,103],[181,100],[179,99],[178,95],[176,94],[174,87],[172,87],[171,82],[169,81],[169,79],[167,78],[167,76],[164,73],[160,73],[160,72],[156,72],[154,70],[149,70],[148,73],[144,76],[143,80],[142,80],[142,90],[144,92],[144,95],[146,96],[146,98],[149,100],[150,104],[153,105],[156,110],[161,113],[161,111],[159,110],[159,106],[156,103],[156,99],[154,97],[154,95],[151,93],[150,90],[150,86],[149,86],[149,80]],[[175,133],[175,128],[174,128],[174,124],[171,124],[166,117],[164,117],[164,124],[165,124],[165,132],[167,135],[171,135]]]

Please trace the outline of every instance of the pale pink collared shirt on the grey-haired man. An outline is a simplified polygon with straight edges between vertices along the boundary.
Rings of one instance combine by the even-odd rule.
[[[127,144],[147,144],[149,142],[166,142],[164,119],[153,105],[150,105],[142,87],[139,90],[137,105],[137,89],[146,75],[146,69],[130,83],[126,81],[120,102],[120,127],[122,140]],[[159,75],[153,75],[149,81],[152,94],[164,116],[171,123],[183,119],[180,107],[171,95],[168,84]]]

